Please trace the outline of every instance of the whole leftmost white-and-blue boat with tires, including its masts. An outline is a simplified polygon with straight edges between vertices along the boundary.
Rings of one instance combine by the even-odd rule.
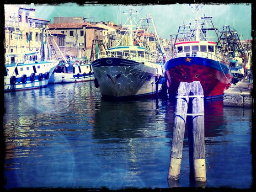
[[[4,91],[35,89],[48,85],[49,78],[59,60],[52,59],[51,53],[46,51],[49,50],[47,36],[40,51],[21,53],[20,32],[16,31],[16,26],[14,29],[17,53],[5,53]]]

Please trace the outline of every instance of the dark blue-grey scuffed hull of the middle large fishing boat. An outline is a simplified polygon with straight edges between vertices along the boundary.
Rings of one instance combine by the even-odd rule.
[[[155,84],[156,68],[133,60],[101,58],[92,63],[102,97],[121,99],[152,96],[161,84]]]

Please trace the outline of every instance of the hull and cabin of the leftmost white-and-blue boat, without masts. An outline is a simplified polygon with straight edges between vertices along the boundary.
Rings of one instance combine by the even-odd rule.
[[[6,60],[16,61],[15,54],[6,54]],[[24,60],[5,63],[4,91],[35,89],[48,85],[49,77],[59,61],[41,61],[39,51],[26,53]]]

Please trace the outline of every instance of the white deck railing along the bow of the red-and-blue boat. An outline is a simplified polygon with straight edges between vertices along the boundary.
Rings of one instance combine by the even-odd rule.
[[[224,53],[214,53],[214,52],[203,52],[198,50],[185,50],[182,52],[175,52],[171,55],[169,59],[178,58],[178,57],[202,57],[213,59],[215,61],[229,64],[229,58],[224,55]]]

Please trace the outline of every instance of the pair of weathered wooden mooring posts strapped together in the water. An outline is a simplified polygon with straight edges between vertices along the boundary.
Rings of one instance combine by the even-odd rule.
[[[203,88],[199,81],[181,82],[178,87],[168,182],[179,180],[187,116],[190,176],[196,182],[206,182]]]

